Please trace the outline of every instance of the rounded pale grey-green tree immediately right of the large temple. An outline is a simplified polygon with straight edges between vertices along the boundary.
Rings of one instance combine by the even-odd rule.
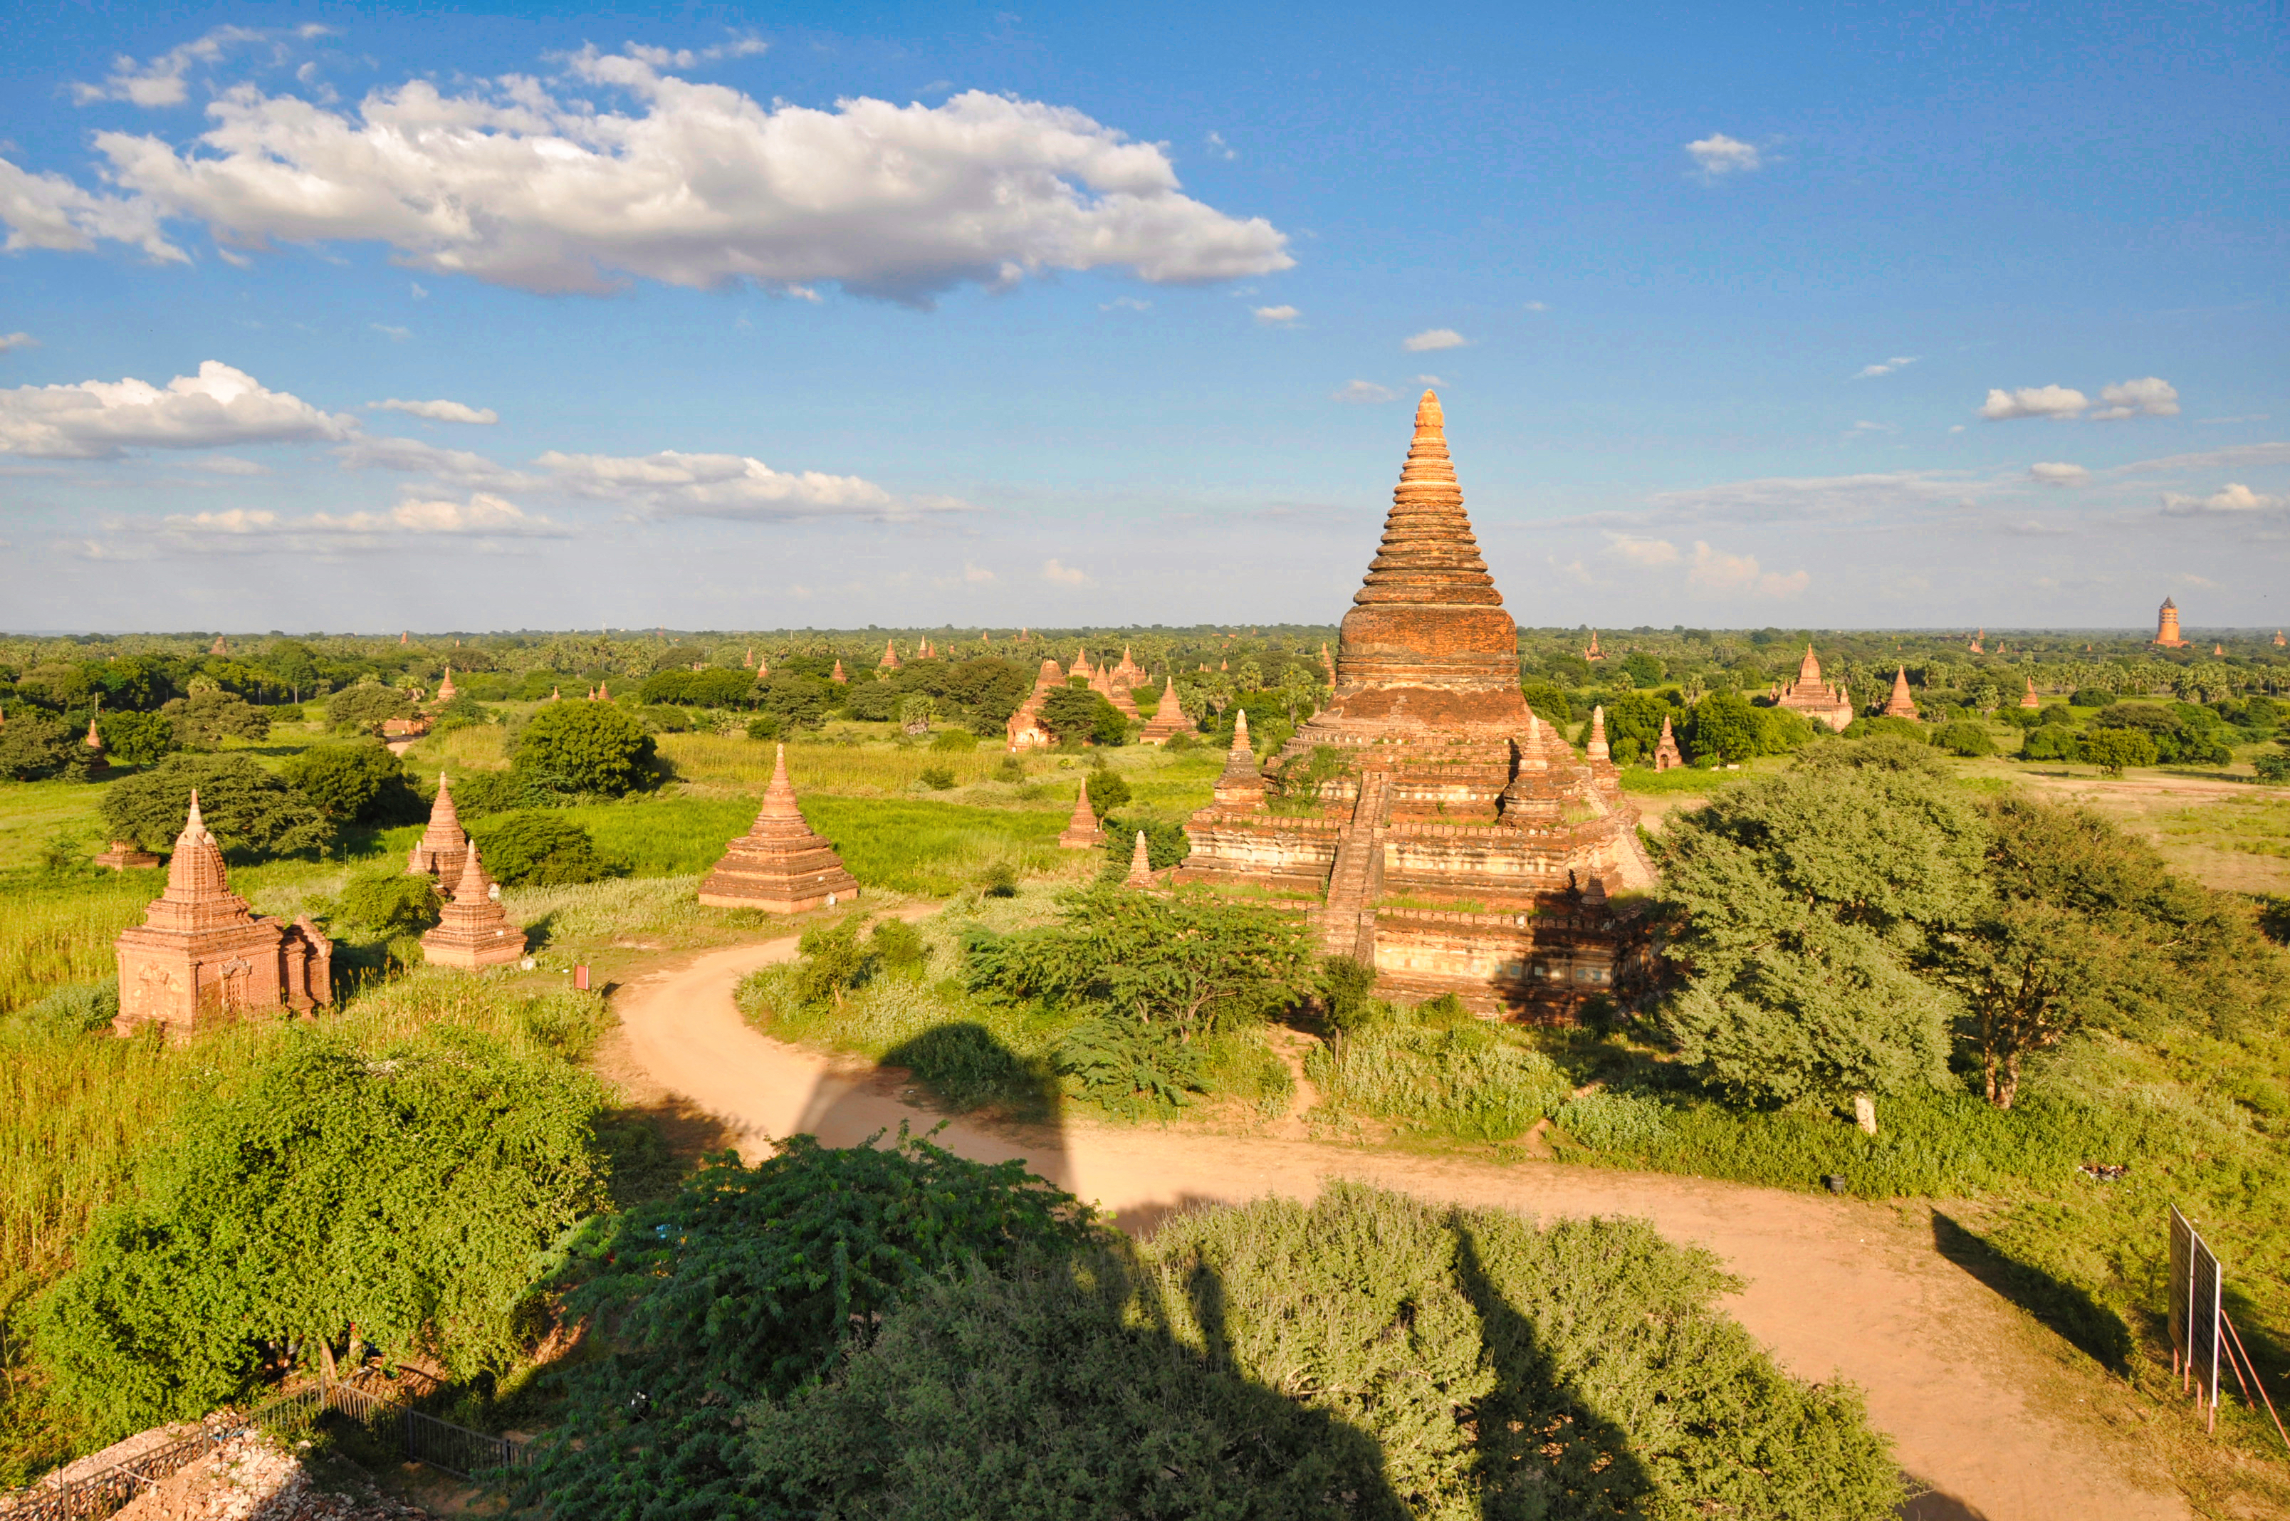
[[[1958,1006],[1919,967],[1979,909],[1983,848],[1979,813],[1901,740],[1727,788],[1658,845],[1685,971],[1663,1033],[1750,1102],[1940,1083]]]

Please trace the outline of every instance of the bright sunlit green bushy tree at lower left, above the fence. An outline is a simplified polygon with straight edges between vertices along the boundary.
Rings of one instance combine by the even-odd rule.
[[[231,1400],[261,1342],[502,1368],[540,1253],[600,1203],[602,1100],[467,1033],[389,1061],[298,1038],[96,1219],[37,1306],[41,1363],[105,1434]]]

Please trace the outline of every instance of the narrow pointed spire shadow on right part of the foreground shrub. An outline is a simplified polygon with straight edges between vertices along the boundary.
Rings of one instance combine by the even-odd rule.
[[[1477,1409],[1479,1514],[1518,1514],[1518,1489],[1555,1489],[1580,1514],[1633,1514],[1656,1494],[1653,1475],[1630,1452],[1630,1436],[1566,1388],[1534,1322],[1495,1287],[1461,1221],[1454,1276],[1479,1313],[1479,1345],[1498,1379]]]

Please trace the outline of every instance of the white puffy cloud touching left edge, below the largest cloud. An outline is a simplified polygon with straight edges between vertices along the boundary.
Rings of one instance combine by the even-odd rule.
[[[300,396],[263,389],[220,360],[167,389],[142,380],[23,385],[0,392],[0,454],[87,460],[124,449],[213,449],[348,438],[350,417],[330,417]]]

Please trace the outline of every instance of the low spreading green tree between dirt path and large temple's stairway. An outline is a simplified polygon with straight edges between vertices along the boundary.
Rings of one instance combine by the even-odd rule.
[[[976,992],[1161,1022],[1179,1038],[1246,1024],[1317,987],[1319,953],[1294,919],[1209,891],[1168,898],[1092,886],[1060,923],[966,941]]]

